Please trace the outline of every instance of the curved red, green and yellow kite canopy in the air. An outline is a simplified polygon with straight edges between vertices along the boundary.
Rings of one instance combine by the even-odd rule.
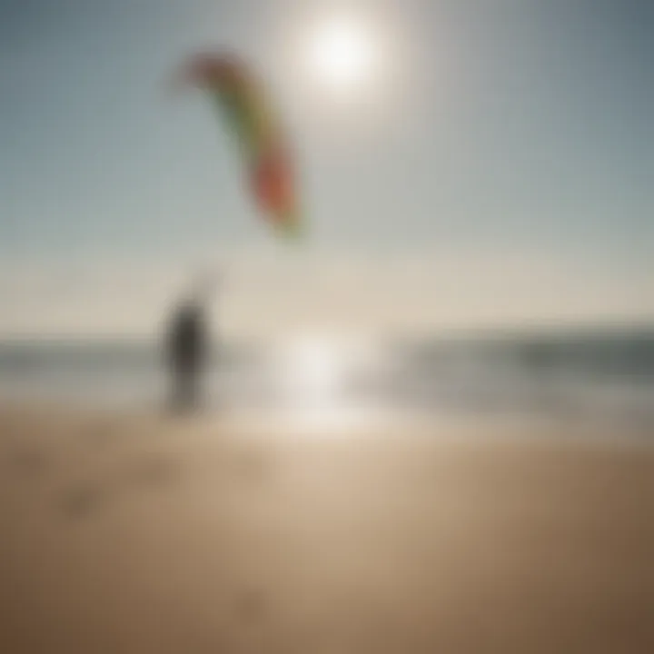
[[[262,84],[233,54],[200,54],[183,81],[213,95],[240,145],[250,190],[278,233],[297,235],[300,213],[289,147]]]

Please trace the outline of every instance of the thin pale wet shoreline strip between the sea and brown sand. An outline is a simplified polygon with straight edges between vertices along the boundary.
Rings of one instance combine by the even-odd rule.
[[[115,421],[118,417],[129,427],[131,421],[145,421],[160,428],[193,428],[230,431],[235,434],[282,441],[335,441],[353,438],[356,441],[403,440],[403,432],[413,441],[433,444],[539,444],[560,447],[594,445],[654,450],[654,425],[632,421],[590,421],[585,417],[533,415],[529,412],[475,414],[474,412],[378,410],[361,411],[336,407],[327,411],[283,409],[251,409],[209,405],[187,414],[171,411],[165,401],[113,405],[103,402],[57,400],[0,400],[0,425],[7,418],[36,421],[50,416],[63,421]]]

